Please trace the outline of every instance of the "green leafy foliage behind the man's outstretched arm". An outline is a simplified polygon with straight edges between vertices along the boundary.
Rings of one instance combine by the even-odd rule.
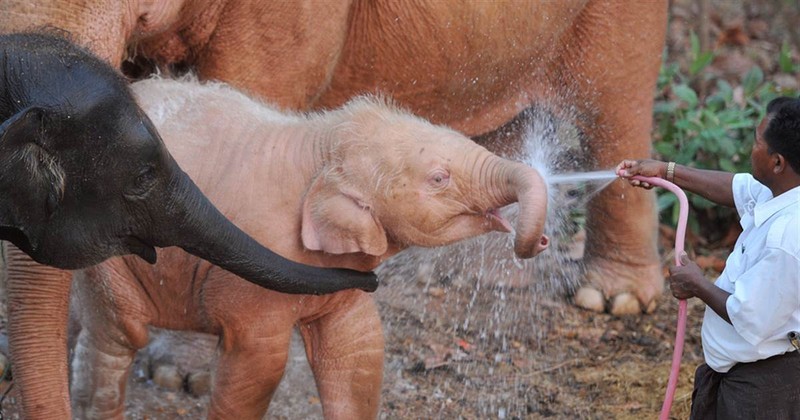
[[[688,73],[678,63],[665,61],[659,74],[654,105],[656,158],[701,169],[749,172],[755,127],[763,118],[767,103],[777,96],[797,92],[779,91],[773,82],[765,80],[764,72],[757,66],[739,81],[716,78],[704,72],[713,61],[713,52],[700,51],[695,34],[691,34],[690,42]],[[786,45],[781,49],[778,64],[782,71],[800,70],[800,65],[792,62]],[[659,209],[674,226],[678,201],[664,190],[658,194]],[[698,214],[710,214],[712,219],[734,216],[732,210],[715,207],[697,195],[689,194],[689,201],[692,207],[689,227],[695,233],[702,233]]]

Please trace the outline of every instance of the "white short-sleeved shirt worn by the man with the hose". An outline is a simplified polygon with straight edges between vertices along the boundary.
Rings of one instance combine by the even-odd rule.
[[[717,372],[794,350],[800,331],[800,187],[778,197],[750,174],[733,177],[742,234],[715,284],[732,293],[727,323],[709,307],[703,353]]]

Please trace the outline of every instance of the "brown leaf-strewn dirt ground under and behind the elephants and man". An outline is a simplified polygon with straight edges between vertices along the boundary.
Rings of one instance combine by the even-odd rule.
[[[718,51],[710,72],[735,83],[736,75],[758,64],[767,77],[798,83],[797,75],[775,72],[784,39],[798,57],[798,34],[787,25],[797,10],[786,6],[790,2],[711,0],[705,12],[702,3],[672,2],[669,59],[685,61],[689,32],[706,31],[704,42]],[[705,28],[700,24],[704,13]],[[672,231],[661,231],[666,267],[673,258]],[[505,239],[494,238],[436,251],[409,250],[381,267],[382,285],[375,298],[387,345],[380,417],[657,417],[672,359],[677,302],[665,293],[655,313],[623,318],[575,308],[569,294],[580,277],[582,237],[580,232],[562,236],[556,244],[559,252],[537,258],[535,265],[497,257],[510,251]],[[706,244],[704,249],[693,245],[706,255],[703,265],[713,278],[730,244]],[[688,418],[694,368],[703,360],[703,310],[697,300],[689,302],[671,411],[676,419]],[[171,353],[182,371],[203,370],[213,357],[214,340],[183,337],[183,344],[158,351]],[[159,388],[148,374],[148,360],[142,355],[134,366],[128,417],[202,418],[208,396]],[[8,384],[5,381],[0,391]],[[12,388],[2,403],[4,418],[17,418],[18,409]],[[313,378],[295,337],[284,382],[267,418],[321,416]]]

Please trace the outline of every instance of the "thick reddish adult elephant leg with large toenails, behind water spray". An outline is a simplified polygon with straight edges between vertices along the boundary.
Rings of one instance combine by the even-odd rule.
[[[650,157],[666,13],[666,2],[590,2],[565,45],[557,77],[573,92],[597,168]],[[587,284],[576,304],[616,315],[653,311],[664,286],[654,192],[615,181],[589,203],[586,231]]]

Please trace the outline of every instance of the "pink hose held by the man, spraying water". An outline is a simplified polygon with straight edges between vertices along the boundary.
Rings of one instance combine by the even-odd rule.
[[[638,181],[647,182],[650,185],[665,188],[678,197],[680,213],[678,215],[678,228],[675,231],[675,265],[681,264],[681,254],[684,251],[686,240],[686,220],[689,216],[689,202],[686,194],[677,185],[656,177],[645,177],[636,175],[632,177]],[[681,369],[681,356],[683,355],[683,339],[686,335],[686,299],[678,301],[678,327],[675,331],[675,349],[672,352],[672,368],[669,371],[669,381],[667,382],[667,393],[664,396],[664,404],[661,406],[660,420],[669,419],[669,411],[672,408],[672,401],[675,399],[675,389],[678,385],[678,372]]]

